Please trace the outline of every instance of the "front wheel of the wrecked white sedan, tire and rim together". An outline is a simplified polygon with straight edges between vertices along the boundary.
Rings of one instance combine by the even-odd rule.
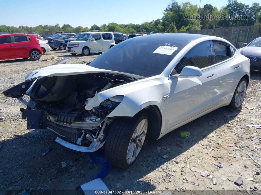
[[[105,142],[105,157],[116,167],[126,169],[137,159],[147,134],[149,117],[115,118]]]

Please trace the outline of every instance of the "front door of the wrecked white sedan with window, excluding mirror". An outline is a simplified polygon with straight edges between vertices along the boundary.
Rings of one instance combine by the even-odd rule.
[[[210,41],[201,42],[189,50],[174,69],[180,74],[185,66],[199,67],[202,76],[171,79],[170,93],[163,109],[168,118],[168,129],[212,108],[217,93]]]

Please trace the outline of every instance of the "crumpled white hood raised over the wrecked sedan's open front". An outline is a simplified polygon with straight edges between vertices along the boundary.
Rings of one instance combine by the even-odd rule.
[[[132,78],[144,79],[146,77],[123,73],[118,71],[105,70],[100,68],[94,68],[86,64],[57,64],[53,66],[47,66],[39,70],[32,71],[31,73],[25,76],[25,80],[33,79],[36,77],[52,77],[52,76],[68,76],[76,74],[87,74],[87,73],[110,73],[110,74],[123,74]]]

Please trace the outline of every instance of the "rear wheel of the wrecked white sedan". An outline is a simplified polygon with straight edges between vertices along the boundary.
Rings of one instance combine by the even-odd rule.
[[[247,87],[247,81],[245,78],[242,78],[239,81],[238,86],[236,86],[236,90],[234,92],[233,98],[229,104],[230,107],[234,109],[238,109],[242,105],[246,95],[246,87]]]

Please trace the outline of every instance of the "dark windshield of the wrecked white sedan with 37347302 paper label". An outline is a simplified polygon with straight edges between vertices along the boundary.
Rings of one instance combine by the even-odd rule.
[[[189,42],[188,40],[152,38],[149,36],[128,39],[98,56],[90,63],[90,66],[152,77],[161,74],[170,61]],[[178,49],[170,55],[161,54],[164,53],[165,49],[157,48],[165,47],[165,44],[178,47]],[[157,51],[155,51],[156,49]],[[170,47],[167,47],[167,49],[170,49]]]

